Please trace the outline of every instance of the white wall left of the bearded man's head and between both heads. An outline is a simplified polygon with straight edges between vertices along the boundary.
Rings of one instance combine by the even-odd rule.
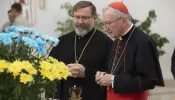
[[[77,1],[79,0],[46,0],[45,10],[41,10],[39,9],[39,7],[36,9],[37,22],[34,25],[34,27],[46,34],[50,34],[52,36],[59,36],[58,32],[54,31],[54,29],[56,29],[57,27],[56,23],[58,20],[65,20],[68,17],[67,12],[60,9],[60,5],[64,4],[65,2],[75,4]],[[99,3],[98,0],[93,0],[93,2],[98,8],[98,12],[101,12],[100,8],[102,8],[103,6],[105,6],[106,3],[108,3],[107,0],[103,0],[103,3]],[[39,2],[36,2],[36,5],[39,5]]]

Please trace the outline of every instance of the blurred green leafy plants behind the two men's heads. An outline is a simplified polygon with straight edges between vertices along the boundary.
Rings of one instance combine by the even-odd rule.
[[[73,16],[72,8],[73,8],[73,6],[69,2],[67,2],[61,6],[61,9],[66,10],[66,12],[69,16],[69,18],[65,22],[64,21],[57,22],[58,28],[56,29],[56,31],[61,32],[61,35],[64,35],[64,34],[74,30],[73,22],[72,22],[72,16]],[[159,33],[153,33],[151,31],[150,27],[151,27],[152,23],[156,21],[156,18],[157,18],[156,12],[154,10],[150,10],[148,13],[148,17],[145,19],[145,21],[140,22],[139,20],[132,18],[132,22],[139,29],[141,29],[142,31],[144,31],[145,33],[147,33],[148,35],[150,35],[152,37],[152,39],[155,41],[155,43],[157,45],[159,56],[162,56],[165,53],[165,51],[162,49],[162,47],[166,43],[168,43],[169,41],[166,37],[161,37],[159,35]],[[97,21],[95,23],[95,28],[103,31],[103,27],[100,25],[100,22],[101,22],[101,19],[98,15]]]

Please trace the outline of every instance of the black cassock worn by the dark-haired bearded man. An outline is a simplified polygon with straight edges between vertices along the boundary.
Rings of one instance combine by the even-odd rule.
[[[94,30],[93,28],[84,37],[76,36],[77,58],[79,58]],[[68,33],[59,39],[59,45],[53,48],[50,55],[65,64],[75,63],[75,32]],[[95,75],[96,71],[107,71],[107,58],[111,47],[112,40],[106,34],[96,30],[79,61],[79,64],[86,67],[85,78],[69,77],[66,81],[61,81],[61,85],[58,85],[57,88],[56,98],[60,97],[60,100],[69,100],[70,92],[72,92],[69,90],[76,85],[76,87],[82,88],[82,100],[106,100],[106,88],[97,85]]]

